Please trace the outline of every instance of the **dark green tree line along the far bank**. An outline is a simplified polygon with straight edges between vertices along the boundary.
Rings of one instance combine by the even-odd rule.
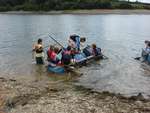
[[[0,11],[50,11],[74,9],[134,9],[149,5],[118,0],[0,0]]]

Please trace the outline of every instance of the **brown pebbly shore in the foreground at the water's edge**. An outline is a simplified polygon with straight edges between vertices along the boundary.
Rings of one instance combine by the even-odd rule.
[[[142,95],[98,93],[69,82],[0,78],[0,113],[150,113]]]

